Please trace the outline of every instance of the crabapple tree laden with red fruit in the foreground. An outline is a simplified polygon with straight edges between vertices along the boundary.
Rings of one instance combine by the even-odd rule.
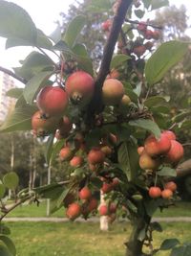
[[[184,151],[173,130],[170,95],[151,91],[183,58],[189,44],[172,40],[153,52],[161,28],[141,20],[167,3],[89,1],[88,13],[108,14],[100,24],[107,41],[96,70],[86,46],[77,40],[86,15],[75,16],[66,30],[57,27],[47,36],[25,10],[0,1],[0,35],[7,38],[6,47],[34,48],[13,72],[0,67],[25,85],[9,92],[17,101],[0,131],[32,130],[47,143],[47,164],[53,167],[57,155],[63,161],[62,180],[30,191],[16,191],[19,180],[14,173],[3,176],[0,249],[5,255],[16,252],[4,217],[24,201],[39,198],[51,199],[52,213],[65,207],[71,221],[90,218],[97,210],[111,222],[117,215],[129,219],[133,228],[126,256],[190,251],[189,244],[177,239],[165,240],[159,248],[152,245],[153,231],[162,231],[152,221],[155,211],[178,198],[173,178]],[[15,195],[11,205],[5,198],[7,188]],[[101,205],[100,189],[105,198]]]

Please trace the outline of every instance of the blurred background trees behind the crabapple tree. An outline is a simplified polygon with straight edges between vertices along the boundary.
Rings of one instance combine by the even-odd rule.
[[[107,39],[107,35],[101,31],[101,23],[108,18],[108,15],[96,13],[93,15],[86,12],[87,4],[90,0],[77,2],[70,6],[69,12],[60,13],[61,26],[66,28],[66,24],[74,18],[76,14],[85,14],[87,17],[87,25],[82,35],[78,38],[79,42],[87,46],[91,58],[94,59],[96,67],[102,57],[103,46]],[[111,12],[112,16],[112,12]],[[156,12],[154,20],[149,20],[150,24],[161,26],[160,42],[167,40],[179,39],[190,40],[186,35],[188,30],[188,16],[186,9],[182,5],[179,9],[175,6],[164,8]],[[155,50],[158,43],[155,42],[153,49]],[[155,88],[150,91],[151,95],[170,95],[168,110],[171,118],[174,118],[176,133],[185,147],[185,159],[191,158],[191,49],[182,61],[175,66]],[[181,110],[180,110],[181,109]],[[186,120],[185,120],[186,117]],[[161,127],[163,120],[161,116],[157,117],[157,122]],[[160,122],[161,121],[161,122]],[[165,126],[164,126],[165,128]],[[0,175],[11,170],[20,176],[20,186],[33,187],[47,183],[46,159],[44,156],[45,140],[34,139],[32,133],[14,132],[9,134],[0,134]],[[63,169],[67,168],[65,164],[59,161],[53,165],[52,180],[62,178]],[[186,180],[186,188],[185,188]],[[180,186],[183,188],[182,194],[184,198],[191,195],[191,176],[186,179],[180,179]],[[190,196],[189,196],[190,197]]]

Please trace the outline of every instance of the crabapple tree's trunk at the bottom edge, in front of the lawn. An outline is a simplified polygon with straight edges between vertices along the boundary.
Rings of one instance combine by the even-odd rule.
[[[126,243],[126,253],[125,256],[143,256],[142,247],[144,244],[144,239],[138,240],[140,232],[145,230],[147,232],[148,226],[150,224],[150,218],[145,220],[143,218],[138,218],[133,223],[133,230],[130,235],[129,241]]]

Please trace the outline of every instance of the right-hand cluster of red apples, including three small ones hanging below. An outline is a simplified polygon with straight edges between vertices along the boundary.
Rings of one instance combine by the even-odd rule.
[[[139,166],[142,170],[157,172],[161,164],[177,164],[183,156],[183,147],[176,140],[171,130],[161,132],[159,139],[150,135],[144,142],[144,147],[138,148]],[[157,174],[157,173],[156,173]],[[177,189],[173,181],[164,185],[164,190],[157,186],[150,187],[151,198],[170,198]]]

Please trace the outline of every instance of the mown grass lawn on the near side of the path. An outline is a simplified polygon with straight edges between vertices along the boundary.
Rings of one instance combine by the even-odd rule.
[[[124,242],[131,230],[129,223],[112,225],[109,232],[100,232],[97,223],[81,222],[9,222],[17,256],[123,256]],[[164,232],[155,233],[154,244],[176,237],[186,242],[191,237],[191,223],[162,223]],[[169,255],[169,251],[159,252]]]

